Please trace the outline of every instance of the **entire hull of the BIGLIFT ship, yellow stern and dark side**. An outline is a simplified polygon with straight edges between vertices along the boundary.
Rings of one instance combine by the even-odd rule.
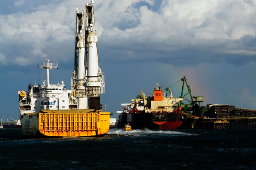
[[[30,137],[99,137],[109,131],[109,112],[50,112],[22,115],[22,134]]]

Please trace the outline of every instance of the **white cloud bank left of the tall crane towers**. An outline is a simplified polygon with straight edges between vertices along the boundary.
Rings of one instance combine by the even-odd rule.
[[[55,5],[54,11],[36,10],[31,13],[15,13],[0,16],[0,44],[2,52],[10,56],[8,63],[35,64],[46,57],[65,58],[63,51],[73,50],[75,11]],[[23,57],[20,57],[23,56]],[[22,62],[21,62],[22,61]],[[30,61],[30,62],[28,62]]]

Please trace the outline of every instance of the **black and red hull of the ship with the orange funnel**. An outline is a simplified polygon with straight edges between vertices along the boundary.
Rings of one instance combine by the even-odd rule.
[[[182,124],[182,113],[122,113],[119,115],[118,127],[124,128],[127,122],[132,129],[170,130],[179,128]]]

